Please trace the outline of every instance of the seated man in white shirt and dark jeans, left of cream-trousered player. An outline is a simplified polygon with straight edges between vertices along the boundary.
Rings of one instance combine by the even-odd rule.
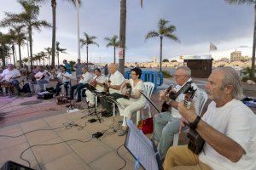
[[[88,71],[88,69],[86,67],[83,67],[82,68],[82,75],[78,76],[79,84],[74,85],[73,87],[71,87],[69,99],[73,99],[73,91],[75,89],[77,89],[78,99],[77,99],[76,102],[80,102],[81,98],[82,98],[81,97],[81,90],[83,88],[85,88],[85,83],[90,82],[91,78],[92,78],[92,76],[90,75],[90,72]]]

